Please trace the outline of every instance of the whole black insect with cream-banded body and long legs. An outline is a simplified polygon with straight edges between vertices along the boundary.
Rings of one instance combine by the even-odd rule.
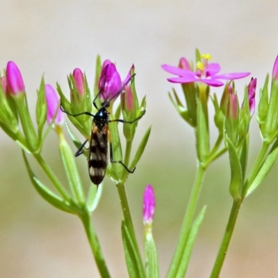
[[[134,76],[135,74],[133,74]],[[125,85],[131,81],[131,78],[124,84],[122,85],[122,88],[120,89],[120,92],[117,92],[111,99],[104,99],[104,102],[101,103],[101,107],[98,108],[96,104],[96,99],[99,97],[99,94],[101,93],[101,90],[99,90],[99,93],[95,97],[94,101],[92,101],[93,106],[97,109],[97,113],[93,115],[90,112],[83,112],[79,114],[72,114],[68,113],[67,111],[64,111],[62,106],[60,106],[61,110],[66,113],[67,115],[70,115],[72,117],[76,117],[79,115],[89,115],[92,117],[92,131],[90,135],[90,145],[88,149],[85,149],[85,144],[88,142],[88,140],[85,140],[81,147],[77,150],[76,154],[74,156],[80,156],[83,154],[83,152],[88,151],[88,170],[89,170],[89,175],[92,183],[95,183],[95,185],[99,186],[99,183],[103,181],[105,173],[106,173],[106,168],[108,165],[108,144],[109,144],[109,154],[110,154],[110,161],[111,163],[120,163],[126,171],[133,173],[136,167],[133,168],[133,170],[129,170],[126,165],[122,161],[114,161],[113,160],[113,149],[112,149],[112,141],[111,141],[111,135],[109,132],[109,122],[122,122],[126,124],[133,124],[133,122],[138,121],[144,114],[145,111],[143,111],[142,115],[139,117],[136,117],[136,119],[132,121],[125,121],[125,120],[109,120],[109,113],[107,111],[107,108],[110,106],[110,101],[119,93],[122,92],[123,88]],[[101,86],[99,86],[101,87]]]

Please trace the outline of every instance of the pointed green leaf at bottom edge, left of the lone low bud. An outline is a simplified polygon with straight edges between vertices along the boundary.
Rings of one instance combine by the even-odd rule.
[[[145,270],[140,267],[140,255],[136,252],[132,236],[122,220],[122,242],[124,244],[124,256],[129,278],[146,278]]]

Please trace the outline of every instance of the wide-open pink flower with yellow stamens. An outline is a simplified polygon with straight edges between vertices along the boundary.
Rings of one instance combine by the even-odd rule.
[[[194,72],[190,69],[186,58],[181,58],[179,67],[172,65],[162,65],[163,70],[175,74],[178,77],[167,79],[172,83],[191,83],[203,82],[212,87],[219,87],[224,85],[220,80],[234,80],[241,79],[250,74],[250,72],[237,72],[230,74],[218,74],[220,72],[220,65],[218,63],[208,63],[208,54],[202,56],[202,62],[197,63],[197,70]]]

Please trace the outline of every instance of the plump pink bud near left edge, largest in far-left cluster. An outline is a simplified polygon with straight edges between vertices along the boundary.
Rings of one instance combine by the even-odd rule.
[[[18,95],[25,92],[22,74],[13,61],[8,62],[6,68],[6,79],[8,92],[12,95]]]

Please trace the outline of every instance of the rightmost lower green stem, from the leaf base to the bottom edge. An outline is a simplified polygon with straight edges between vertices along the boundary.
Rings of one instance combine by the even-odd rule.
[[[220,249],[218,251],[218,256],[216,257],[213,270],[211,272],[211,278],[218,278],[222,265],[224,263],[225,256],[231,241],[231,236],[233,235],[234,227],[236,225],[236,220],[238,218],[238,213],[240,210],[241,201],[234,201],[233,206],[231,207],[231,213],[229,216],[229,221],[227,223],[226,231],[224,233]]]

